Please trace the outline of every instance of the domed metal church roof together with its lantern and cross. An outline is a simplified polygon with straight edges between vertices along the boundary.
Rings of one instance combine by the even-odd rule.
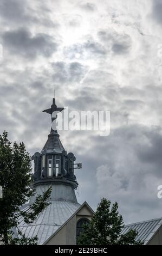
[[[51,115],[51,121],[53,123],[57,117],[55,115],[53,117],[53,113],[56,111],[61,112],[62,110],[63,108],[57,108],[55,99],[53,99],[53,105],[51,105],[51,108],[46,109],[44,112]],[[23,217],[20,217],[18,220],[18,229],[20,229],[22,234],[28,238],[37,236],[38,245],[43,245],[81,207],[81,205],[77,203],[74,191],[78,185],[77,181],[75,181],[76,177],[74,175],[74,162],[67,159],[69,155],[67,156],[59,137],[59,134],[55,129],[53,129],[52,126],[50,134],[48,135],[48,140],[41,151],[41,154],[45,156],[45,163],[43,163],[43,157],[41,159],[40,153],[35,153],[33,157],[33,160],[35,161],[35,180],[33,184],[35,194],[31,196],[30,202],[27,205],[24,205],[21,210],[30,212],[30,205],[35,202],[38,195],[43,195],[43,193],[47,191],[49,187],[51,187],[51,194],[49,197],[50,204],[41,212],[41,214],[36,217],[36,220],[33,223],[25,223]],[[47,162],[49,161],[46,154],[55,155],[55,153],[63,153],[63,157],[60,158],[60,166],[62,167],[60,168],[61,172],[59,174],[61,175],[48,175],[47,170],[49,170],[49,163]],[[71,156],[74,160],[74,155],[72,153]],[[54,157],[51,159],[54,160]],[[64,161],[64,164],[62,164],[62,160]],[[68,168],[67,170],[64,169],[65,160],[71,161],[73,164],[72,167],[70,164],[68,164],[68,167],[66,167]],[[54,167],[53,168],[50,166],[50,168],[55,170],[56,162],[53,161],[50,164]],[[69,173],[67,174],[67,172]],[[66,175],[64,175],[64,173],[66,173]]]

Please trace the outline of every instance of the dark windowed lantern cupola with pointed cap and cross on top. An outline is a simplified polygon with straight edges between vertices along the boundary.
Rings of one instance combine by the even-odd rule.
[[[63,111],[63,109],[63,107],[56,106],[54,98],[51,108],[43,112],[51,115],[51,123],[53,124],[57,118],[56,113]],[[56,129],[53,129],[53,125],[41,153],[36,152],[32,156],[32,160],[34,160],[34,185],[52,182],[53,184],[70,184],[74,189],[78,186],[74,169],[81,168],[81,163],[75,165],[74,154],[67,153],[63,148],[60,135]]]

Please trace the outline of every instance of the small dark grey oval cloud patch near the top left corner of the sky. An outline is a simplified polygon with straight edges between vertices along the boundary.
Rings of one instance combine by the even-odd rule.
[[[57,50],[57,44],[51,36],[43,33],[32,35],[26,29],[7,31],[2,34],[4,48],[11,54],[25,58],[38,55],[50,57]]]

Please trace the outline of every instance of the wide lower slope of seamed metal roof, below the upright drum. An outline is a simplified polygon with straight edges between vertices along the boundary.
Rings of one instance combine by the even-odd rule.
[[[29,207],[24,211],[29,211]],[[26,224],[21,217],[18,228],[27,237],[37,235],[38,245],[43,245],[79,208],[78,203],[53,200],[32,224]]]

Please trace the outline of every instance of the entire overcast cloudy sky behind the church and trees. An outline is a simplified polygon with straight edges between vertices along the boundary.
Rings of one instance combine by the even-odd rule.
[[[0,132],[32,155],[57,106],[111,111],[111,134],[61,131],[79,203],[118,201],[126,223],[162,217],[161,0],[1,0]]]

